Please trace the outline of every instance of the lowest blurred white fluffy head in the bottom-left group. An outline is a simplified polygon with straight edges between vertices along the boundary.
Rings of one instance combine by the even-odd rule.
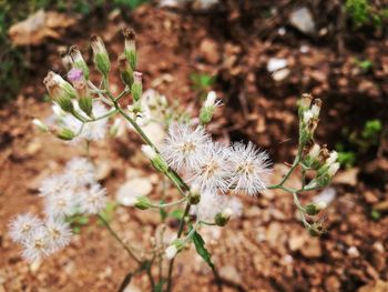
[[[44,226],[34,229],[31,236],[23,242],[23,259],[29,262],[35,262],[50,255],[50,253],[51,246],[48,230]]]

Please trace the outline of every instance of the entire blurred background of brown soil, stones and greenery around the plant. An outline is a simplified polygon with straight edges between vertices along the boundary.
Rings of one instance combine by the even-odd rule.
[[[65,74],[59,50],[76,44],[92,66],[89,39],[101,36],[119,91],[123,27],[136,31],[143,88],[191,114],[215,90],[224,105],[211,133],[267,150],[274,180],[296,152],[297,98],[324,102],[317,141],[339,152],[343,168],[330,188],[302,200],[328,202],[328,233],[310,238],[288,194],[243,199],[243,215],[221,236],[208,234],[225,291],[388,291],[387,24],[385,0],[0,0],[0,291],[115,291],[134,266],[96,224],[80,222],[71,246],[39,266],[24,263],[7,234],[12,215],[39,212],[40,181],[82,153],[31,125],[50,113],[48,70]],[[112,199],[129,180],[145,178],[157,192],[139,145],[129,132],[92,149]],[[126,239],[149,244],[155,214],[114,212]],[[216,291],[194,253],[177,261],[176,274],[176,291]],[[147,291],[146,279],[127,291]]]

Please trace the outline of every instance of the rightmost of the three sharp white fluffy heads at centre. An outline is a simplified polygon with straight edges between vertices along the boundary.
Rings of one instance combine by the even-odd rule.
[[[247,145],[235,143],[229,151],[229,161],[233,165],[231,189],[244,191],[249,195],[266,189],[270,174],[266,152],[259,151],[252,142]]]

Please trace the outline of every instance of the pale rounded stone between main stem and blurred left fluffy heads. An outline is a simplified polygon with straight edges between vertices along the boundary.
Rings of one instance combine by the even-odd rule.
[[[116,200],[120,204],[132,205],[133,199],[141,195],[147,195],[152,191],[152,183],[146,178],[135,178],[126,181],[116,193]]]

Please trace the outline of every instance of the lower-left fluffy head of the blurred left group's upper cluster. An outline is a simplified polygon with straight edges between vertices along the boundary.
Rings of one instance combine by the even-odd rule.
[[[64,190],[58,194],[44,197],[44,213],[49,218],[62,219],[76,211],[74,190]]]

